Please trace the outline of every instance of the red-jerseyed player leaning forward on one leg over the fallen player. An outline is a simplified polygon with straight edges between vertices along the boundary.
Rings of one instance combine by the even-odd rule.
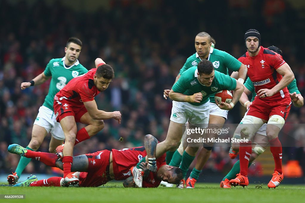
[[[95,59],[95,66],[97,68],[92,68],[88,73],[72,79],[54,96],[56,121],[62,126],[65,135],[62,160],[66,184],[77,184],[79,181],[71,173],[74,145],[89,139],[101,130],[92,123],[99,120],[103,127],[104,119],[114,118],[119,123],[121,121],[120,111],[106,112],[97,108],[94,97],[108,88],[114,71],[100,58]],[[76,122],[88,125],[77,131]]]

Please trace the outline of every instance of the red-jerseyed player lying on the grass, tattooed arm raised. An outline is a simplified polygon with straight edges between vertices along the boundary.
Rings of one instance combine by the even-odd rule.
[[[79,178],[80,187],[98,187],[106,184],[110,180],[125,180],[128,177],[134,175],[135,178],[142,177],[143,185],[139,187],[158,187],[161,180],[169,183],[177,184],[182,178],[182,172],[178,167],[169,166],[165,163],[165,154],[156,159],[152,164],[151,170],[156,171],[153,173],[148,171],[148,175],[145,175],[145,171],[142,174],[135,174],[134,166],[148,154],[155,153],[157,139],[152,135],[145,135],[144,146],[134,147],[130,149],[112,149],[102,150],[90,154],[80,155],[73,157],[73,163],[71,166],[72,171],[76,177]],[[58,159],[56,154],[46,152],[34,152],[23,148],[20,145],[9,145],[8,151],[14,154],[20,154],[27,158],[34,158],[48,166],[58,167],[63,169],[63,163]],[[146,163],[141,163],[141,167],[147,168]],[[128,179],[124,184],[126,186],[133,186],[133,177]],[[37,180],[37,177],[31,176],[27,180],[18,183],[14,186],[69,186],[71,182],[66,182],[63,177],[51,177],[44,180]],[[72,181],[73,184],[73,181]],[[76,184],[77,186],[77,184]]]

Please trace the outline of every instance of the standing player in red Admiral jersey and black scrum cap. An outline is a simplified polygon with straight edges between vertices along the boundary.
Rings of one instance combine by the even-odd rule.
[[[275,169],[268,187],[277,187],[283,179],[282,145],[278,133],[289,114],[291,99],[287,85],[294,79],[294,74],[281,55],[260,46],[260,33],[250,29],[244,36],[246,54],[239,58],[248,68],[247,75],[253,82],[255,97],[244,117],[241,126],[241,138],[249,142],[240,143],[240,173],[230,180],[231,185],[247,186],[248,164],[252,153],[252,138],[256,131],[267,123],[266,134],[274,158]]]

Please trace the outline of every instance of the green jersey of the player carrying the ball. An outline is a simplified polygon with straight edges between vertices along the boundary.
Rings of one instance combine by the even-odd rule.
[[[236,80],[234,78],[217,70],[215,70],[215,77],[211,86],[207,87],[199,82],[197,72],[196,66],[189,68],[182,73],[172,88],[174,92],[183,93],[188,96],[201,92],[203,96],[202,101],[200,103],[189,102],[192,105],[199,106],[208,102],[210,95],[214,95],[223,89],[234,90],[236,88]]]

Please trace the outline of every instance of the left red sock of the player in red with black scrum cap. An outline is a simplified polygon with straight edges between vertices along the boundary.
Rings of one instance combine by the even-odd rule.
[[[252,153],[252,142],[241,142],[239,144],[239,164],[240,164],[240,174],[242,176],[248,176],[248,165],[249,159]]]

